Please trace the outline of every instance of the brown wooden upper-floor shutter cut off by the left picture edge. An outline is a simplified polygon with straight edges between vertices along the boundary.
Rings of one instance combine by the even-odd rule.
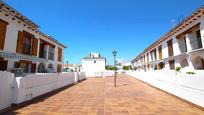
[[[4,49],[7,22],[0,19],[0,50]]]

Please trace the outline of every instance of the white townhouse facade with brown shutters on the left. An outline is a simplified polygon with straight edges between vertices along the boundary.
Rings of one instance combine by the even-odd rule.
[[[39,26],[0,1],[0,71],[61,72],[64,46]]]

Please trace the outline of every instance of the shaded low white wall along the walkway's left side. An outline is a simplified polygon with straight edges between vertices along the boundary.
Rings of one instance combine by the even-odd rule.
[[[9,72],[0,72],[0,110],[84,79],[84,72],[39,73],[16,78]]]

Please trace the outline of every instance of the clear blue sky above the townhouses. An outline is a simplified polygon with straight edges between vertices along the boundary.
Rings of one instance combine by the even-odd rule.
[[[131,61],[178,22],[204,4],[204,0],[4,0],[40,30],[68,46],[65,61],[81,63],[99,52],[112,64]]]

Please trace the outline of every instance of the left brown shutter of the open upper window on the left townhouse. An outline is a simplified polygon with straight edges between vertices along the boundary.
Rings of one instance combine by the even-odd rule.
[[[23,32],[18,31],[18,41],[17,41],[16,52],[22,53],[22,51],[23,51]]]

